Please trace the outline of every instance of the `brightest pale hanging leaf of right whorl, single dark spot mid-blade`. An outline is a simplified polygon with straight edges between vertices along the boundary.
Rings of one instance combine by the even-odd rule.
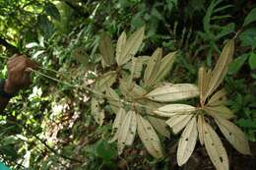
[[[197,136],[197,121],[196,118],[193,117],[183,131],[178,142],[177,162],[179,166],[186,163],[191,156],[196,146]]]

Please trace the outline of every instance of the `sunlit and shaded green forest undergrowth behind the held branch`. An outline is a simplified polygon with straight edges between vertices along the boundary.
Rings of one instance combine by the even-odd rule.
[[[116,42],[123,30],[129,33],[142,26],[146,39],[140,55],[152,54],[157,47],[163,47],[164,54],[179,50],[166,78],[170,83],[195,83],[198,68],[213,67],[224,39],[239,32],[223,85],[236,116],[233,122],[246,133],[255,153],[255,7],[245,0],[1,0],[0,77],[6,76],[6,58],[16,52],[41,66],[40,74],[33,73],[31,88],[13,98],[0,116],[1,161],[13,169],[179,169],[178,138],[173,136],[160,139],[165,145],[160,160],[138,140],[118,155],[116,143],[107,142],[113,114],[108,108],[98,126],[89,91],[80,87],[90,86],[100,74],[101,31]],[[86,66],[96,74],[88,73]],[[224,145],[231,169],[255,169],[255,157]],[[198,145],[180,169],[214,169],[207,157]]]

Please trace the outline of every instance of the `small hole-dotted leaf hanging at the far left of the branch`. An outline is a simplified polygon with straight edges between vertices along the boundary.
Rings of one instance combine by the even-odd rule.
[[[104,111],[99,108],[99,103],[95,97],[93,97],[91,101],[91,112],[96,120],[96,123],[99,126],[101,126],[103,124],[105,115],[104,115]]]

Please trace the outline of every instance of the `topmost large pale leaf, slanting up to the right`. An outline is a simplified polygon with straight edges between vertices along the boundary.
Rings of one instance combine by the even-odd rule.
[[[138,52],[144,38],[144,30],[145,30],[144,27],[139,28],[128,38],[127,41],[125,41],[124,40],[125,38],[122,37],[123,40],[120,40],[120,41],[122,41],[122,43],[123,41],[125,41],[125,43],[123,45],[120,45],[121,53],[120,55],[117,55],[117,58],[116,58],[117,64],[119,66],[128,62]]]

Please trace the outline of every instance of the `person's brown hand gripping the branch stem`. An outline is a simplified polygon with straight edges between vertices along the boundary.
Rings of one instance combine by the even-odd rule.
[[[8,78],[5,82],[5,91],[9,94],[14,94],[19,89],[31,85],[30,70],[36,69],[38,64],[30,60],[24,55],[15,54],[7,62]]]

